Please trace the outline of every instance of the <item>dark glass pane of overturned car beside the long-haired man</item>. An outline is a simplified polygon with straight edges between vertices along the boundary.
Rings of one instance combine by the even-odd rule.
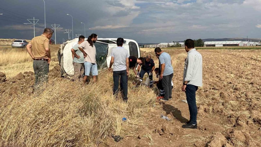
[[[98,69],[107,68],[106,58],[108,55],[108,44],[96,41],[94,46],[96,48],[96,62]]]

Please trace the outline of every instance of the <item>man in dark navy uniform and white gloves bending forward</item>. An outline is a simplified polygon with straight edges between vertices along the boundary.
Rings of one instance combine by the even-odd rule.
[[[145,59],[145,63],[141,66],[138,66],[138,75],[140,78],[143,78],[145,73],[148,73],[149,79],[150,79],[150,87],[152,87],[153,83],[152,83],[152,72],[155,69],[155,64],[153,59],[151,59],[151,55],[147,55]],[[140,73],[139,73],[139,69],[140,67],[142,67]]]

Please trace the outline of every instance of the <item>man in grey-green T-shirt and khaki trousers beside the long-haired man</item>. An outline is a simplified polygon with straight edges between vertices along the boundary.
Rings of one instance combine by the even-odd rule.
[[[85,37],[83,35],[79,36],[78,43],[71,49],[73,55],[73,68],[75,78],[80,78],[84,75],[84,55],[79,50],[78,46],[84,42]]]

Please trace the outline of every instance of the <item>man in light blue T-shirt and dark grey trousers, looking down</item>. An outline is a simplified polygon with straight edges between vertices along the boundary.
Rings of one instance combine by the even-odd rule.
[[[155,54],[159,55],[160,60],[160,77],[159,80],[162,80],[162,87],[164,89],[165,95],[164,98],[160,98],[161,101],[168,101],[172,99],[172,88],[171,81],[173,77],[173,67],[171,56],[168,53],[163,52],[159,47],[155,48]]]

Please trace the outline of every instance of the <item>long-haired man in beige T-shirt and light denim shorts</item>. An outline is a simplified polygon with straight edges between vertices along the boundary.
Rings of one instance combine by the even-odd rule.
[[[97,35],[91,34],[87,40],[82,42],[78,48],[84,54],[84,84],[90,76],[90,72],[93,75],[93,82],[96,82],[98,76],[98,68],[96,63],[96,48],[93,43],[97,41]]]

